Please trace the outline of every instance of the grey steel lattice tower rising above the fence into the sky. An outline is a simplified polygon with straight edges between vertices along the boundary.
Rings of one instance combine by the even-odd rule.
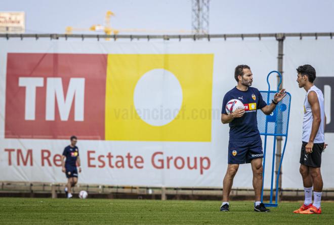
[[[192,0],[192,32],[207,34],[209,32],[210,0]]]

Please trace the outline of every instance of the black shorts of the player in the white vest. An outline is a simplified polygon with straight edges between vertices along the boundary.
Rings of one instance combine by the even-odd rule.
[[[302,151],[301,151],[301,159],[300,163],[305,166],[310,167],[320,167],[321,166],[321,153],[323,150],[324,143],[315,143],[313,144],[312,153],[306,154],[305,146],[307,142],[303,141]]]

